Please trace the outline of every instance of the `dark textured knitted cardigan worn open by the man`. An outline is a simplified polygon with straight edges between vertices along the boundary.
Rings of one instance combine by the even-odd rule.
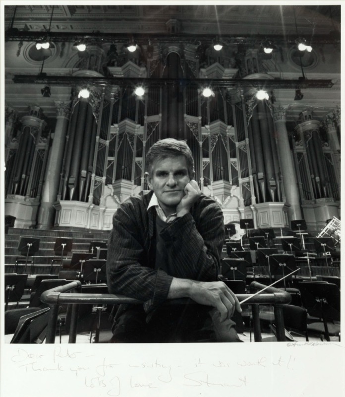
[[[156,210],[147,210],[153,192],[141,192],[120,204],[108,240],[107,279],[110,293],[144,303],[148,313],[167,299],[173,277],[216,281],[225,239],[224,218],[214,199],[201,195],[188,214],[161,231],[174,270],[156,269]],[[167,268],[167,266],[162,266]]]

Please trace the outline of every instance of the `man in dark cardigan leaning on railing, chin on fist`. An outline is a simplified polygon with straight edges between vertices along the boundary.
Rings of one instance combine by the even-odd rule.
[[[156,142],[146,170],[150,192],[116,210],[107,256],[109,291],[143,305],[120,307],[111,341],[239,341],[230,320],[239,302],[217,281],[223,213],[193,180],[188,145]]]

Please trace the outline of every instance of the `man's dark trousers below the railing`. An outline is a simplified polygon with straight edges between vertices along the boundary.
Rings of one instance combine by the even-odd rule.
[[[162,305],[147,321],[143,307],[133,305],[116,316],[110,343],[241,342],[235,326],[209,306]]]

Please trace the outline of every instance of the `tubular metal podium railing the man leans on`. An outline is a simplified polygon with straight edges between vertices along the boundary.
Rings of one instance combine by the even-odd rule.
[[[268,287],[264,284],[260,284],[253,281],[250,284],[251,291],[259,291],[266,288],[265,293],[258,294],[247,300],[243,305],[251,305],[253,315],[253,332],[254,340],[256,342],[261,341],[261,329],[259,319],[259,305],[273,305],[275,323],[277,330],[277,340],[285,341],[285,329],[284,329],[284,318],[283,318],[283,306],[291,301],[291,295],[281,289],[275,287]],[[76,292],[71,292],[76,291]],[[82,293],[82,284],[80,281],[71,281],[68,284],[52,288],[45,291],[41,295],[41,301],[46,303],[50,307],[49,320],[47,327],[46,343],[55,343],[57,322],[58,322],[58,310],[60,305],[72,304],[71,323],[69,329],[68,343],[76,342],[77,335],[77,319],[79,305],[82,304],[140,304],[142,301],[137,299],[128,298],[123,295],[114,294],[91,294]],[[237,294],[239,302],[248,298],[248,294]],[[180,300],[179,300],[180,302]],[[173,303],[173,301],[170,301]]]

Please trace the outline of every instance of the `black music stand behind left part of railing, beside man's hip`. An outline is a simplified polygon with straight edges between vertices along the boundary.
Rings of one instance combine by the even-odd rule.
[[[84,284],[81,286],[81,293],[108,294],[108,286],[104,283]],[[72,304],[67,306],[65,319],[67,334],[70,332],[72,307]],[[110,331],[113,326],[112,309],[113,305],[107,304],[79,305],[76,333],[90,333],[90,343],[107,343],[113,334]]]

